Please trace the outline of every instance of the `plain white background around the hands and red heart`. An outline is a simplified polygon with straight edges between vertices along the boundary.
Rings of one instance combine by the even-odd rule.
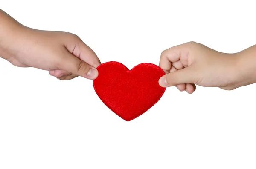
[[[253,1],[251,1],[253,2]],[[0,0],[20,23],[72,32],[102,63],[129,69],[196,41],[234,53],[256,40],[253,3],[181,0]],[[0,169],[255,169],[256,85],[175,87],[140,117],[111,112],[81,77],[0,60]]]

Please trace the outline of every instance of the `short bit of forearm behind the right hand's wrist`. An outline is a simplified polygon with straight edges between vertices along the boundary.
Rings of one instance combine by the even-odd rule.
[[[237,53],[237,57],[238,85],[256,83],[256,45]]]

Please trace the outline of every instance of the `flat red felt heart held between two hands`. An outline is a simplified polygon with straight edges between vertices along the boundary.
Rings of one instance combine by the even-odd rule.
[[[139,117],[162,97],[166,88],[158,84],[163,70],[151,63],[141,63],[131,71],[119,62],[98,66],[93,80],[95,92],[116,115],[126,121]]]

